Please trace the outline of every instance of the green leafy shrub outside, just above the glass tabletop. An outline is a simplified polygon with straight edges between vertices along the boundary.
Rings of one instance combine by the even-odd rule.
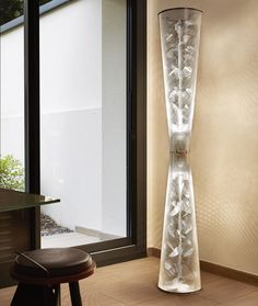
[[[0,188],[24,191],[24,168],[12,155],[0,158]]]

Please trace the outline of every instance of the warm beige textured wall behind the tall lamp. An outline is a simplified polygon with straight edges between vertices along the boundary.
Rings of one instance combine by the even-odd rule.
[[[258,274],[258,1],[148,1],[148,245],[161,247],[168,138],[157,12],[204,11],[191,140],[200,257]]]

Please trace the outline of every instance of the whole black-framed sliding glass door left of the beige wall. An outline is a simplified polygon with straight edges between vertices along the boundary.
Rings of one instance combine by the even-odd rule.
[[[145,0],[25,0],[1,26],[1,158],[15,189],[61,199],[9,216],[19,250],[145,256]]]

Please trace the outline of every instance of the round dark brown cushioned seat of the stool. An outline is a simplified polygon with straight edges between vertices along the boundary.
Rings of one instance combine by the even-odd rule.
[[[23,252],[16,257],[12,276],[22,283],[56,284],[93,274],[95,263],[80,249],[54,248]]]

